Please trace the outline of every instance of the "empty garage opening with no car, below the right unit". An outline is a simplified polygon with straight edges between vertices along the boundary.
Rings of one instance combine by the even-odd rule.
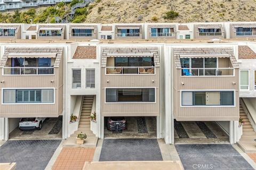
[[[174,120],[174,143],[176,144],[228,144],[229,122],[176,121]]]

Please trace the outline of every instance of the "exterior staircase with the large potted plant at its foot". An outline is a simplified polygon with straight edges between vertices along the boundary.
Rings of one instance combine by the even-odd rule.
[[[95,134],[91,131],[91,121],[90,115],[92,111],[94,96],[84,96],[82,109],[79,118],[78,129],[70,137],[70,142],[66,142],[65,146],[73,146],[73,147],[96,147],[98,142],[98,137],[95,137]],[[78,133],[85,133],[87,138],[84,140],[83,145],[76,145],[76,136]],[[68,145],[70,143],[70,145]]]

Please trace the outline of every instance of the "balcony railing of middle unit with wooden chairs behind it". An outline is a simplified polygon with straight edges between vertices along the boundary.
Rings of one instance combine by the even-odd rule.
[[[106,74],[155,74],[155,67],[106,67]]]

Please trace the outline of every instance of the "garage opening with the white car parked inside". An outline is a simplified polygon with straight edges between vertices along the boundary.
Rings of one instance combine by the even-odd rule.
[[[62,116],[8,118],[9,140],[62,139]]]

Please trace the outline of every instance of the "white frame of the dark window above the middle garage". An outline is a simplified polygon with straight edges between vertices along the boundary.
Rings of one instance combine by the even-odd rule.
[[[155,101],[154,102],[106,102],[107,99],[107,89],[155,89]],[[156,87],[105,87],[104,88],[104,103],[105,104],[153,104],[156,103]]]

